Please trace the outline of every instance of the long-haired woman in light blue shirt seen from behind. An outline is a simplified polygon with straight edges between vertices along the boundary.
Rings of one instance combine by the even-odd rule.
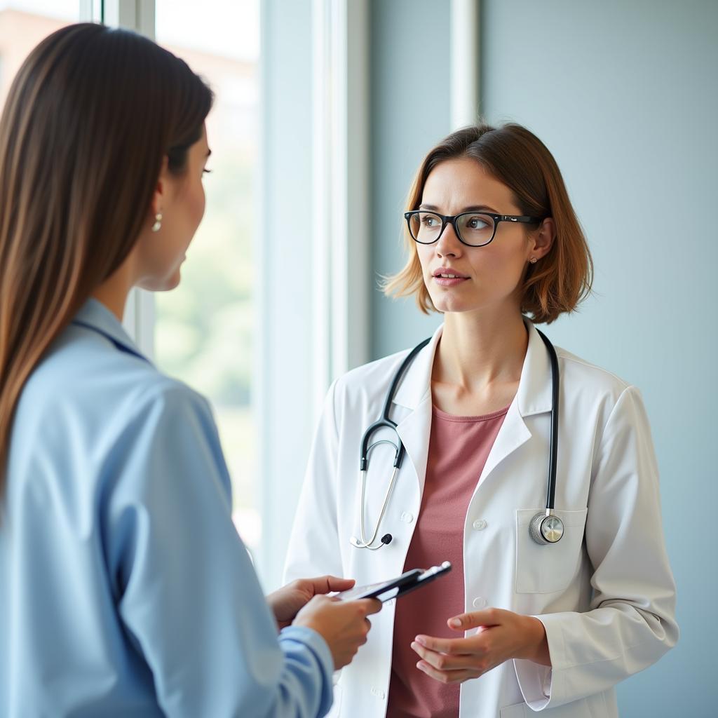
[[[210,406],[124,332],[205,210],[212,93],[131,32],[29,55],[0,120],[0,715],[323,715],[375,601],[268,597]],[[269,605],[268,605],[269,604]]]

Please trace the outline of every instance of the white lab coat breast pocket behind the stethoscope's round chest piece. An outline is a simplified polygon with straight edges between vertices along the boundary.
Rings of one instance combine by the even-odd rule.
[[[564,535],[556,544],[536,544],[528,532],[531,519],[541,508],[516,511],[516,593],[562,591],[579,570],[588,509],[556,510],[564,522]]]

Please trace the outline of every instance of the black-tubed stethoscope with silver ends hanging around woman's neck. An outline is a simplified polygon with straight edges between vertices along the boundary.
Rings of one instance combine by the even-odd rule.
[[[533,541],[536,541],[537,544],[544,546],[546,544],[556,544],[556,542],[561,539],[561,536],[564,535],[564,522],[561,521],[561,519],[554,513],[554,500],[556,498],[556,457],[559,452],[559,360],[556,357],[554,345],[551,344],[549,338],[546,337],[543,332],[538,330],[536,331],[538,332],[538,336],[544,340],[546,350],[549,353],[549,359],[551,360],[551,439],[549,442],[549,488],[546,492],[546,511],[537,513],[536,516],[531,519],[531,523],[528,525],[528,533],[531,538],[533,538]],[[404,373],[406,373],[406,370],[409,368],[409,365],[411,365],[411,362],[414,361],[416,355],[429,343],[429,341],[431,341],[431,337],[429,337],[429,339],[425,339],[421,342],[421,344],[414,347],[409,355],[407,355],[406,359],[404,359],[401,363],[401,366],[394,375],[389,391],[386,393],[381,418],[369,426],[362,437],[361,456],[359,461],[359,472],[361,476],[361,499],[359,503],[360,538],[357,538],[356,536],[352,536],[350,538],[350,543],[357,549],[369,549],[370,551],[376,551],[377,549],[381,549],[382,546],[391,544],[391,541],[393,540],[391,533],[385,533],[379,540],[379,543],[376,544],[376,546],[374,545],[376,537],[379,533],[379,528],[381,527],[381,522],[384,518],[384,514],[386,513],[389,498],[391,498],[391,492],[396,484],[396,477],[399,469],[401,469],[401,462],[404,460],[404,454],[406,454],[404,444],[401,442],[401,437],[399,437],[398,431],[396,430],[396,422],[389,419],[389,409],[391,409],[391,403],[394,395],[396,394],[396,389],[401,382],[401,378],[403,378]],[[372,434],[378,431],[378,429],[383,428],[390,429],[394,432],[396,435],[396,444],[391,442],[389,439],[380,439],[373,444],[369,444]],[[376,527],[374,528],[371,538],[367,541],[364,527],[366,473],[369,466],[369,453],[371,449],[377,447],[379,444],[389,444],[393,447],[393,472],[386,490],[386,495],[384,496],[384,501],[381,505],[381,512],[379,513]]]

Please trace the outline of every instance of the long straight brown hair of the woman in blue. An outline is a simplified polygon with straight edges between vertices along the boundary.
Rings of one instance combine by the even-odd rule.
[[[75,24],[30,53],[0,118],[0,495],[30,373],[148,219],[164,157],[182,174],[213,95],[125,30]]]

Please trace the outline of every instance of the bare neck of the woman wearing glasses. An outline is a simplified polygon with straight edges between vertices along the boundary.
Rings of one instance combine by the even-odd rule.
[[[518,383],[526,348],[528,333],[516,309],[446,314],[432,378],[466,391]]]

